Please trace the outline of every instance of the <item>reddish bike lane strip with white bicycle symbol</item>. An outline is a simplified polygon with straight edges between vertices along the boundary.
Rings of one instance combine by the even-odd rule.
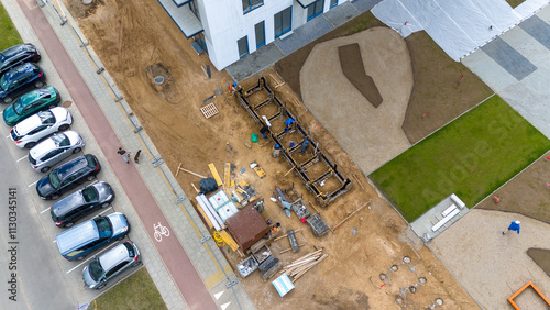
[[[168,229],[168,232],[173,231],[136,168],[133,164],[125,164],[117,154],[118,147],[122,145],[120,140],[42,10],[34,0],[18,0],[18,4],[44,46],[44,52],[56,67],[68,92],[75,99],[75,104],[98,141],[150,237],[155,240],[155,226],[158,224]],[[161,242],[153,243],[188,307],[190,309],[218,309],[178,239],[173,234],[161,236]]]

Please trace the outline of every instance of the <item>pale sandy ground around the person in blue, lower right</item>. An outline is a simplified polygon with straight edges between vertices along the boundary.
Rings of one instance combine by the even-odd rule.
[[[503,236],[502,232],[515,220],[521,222],[520,234],[508,232]],[[529,247],[550,248],[548,235],[550,225],[541,221],[474,209],[430,246],[483,308],[508,309],[506,299],[527,281],[543,292],[550,291],[550,278],[526,253]]]

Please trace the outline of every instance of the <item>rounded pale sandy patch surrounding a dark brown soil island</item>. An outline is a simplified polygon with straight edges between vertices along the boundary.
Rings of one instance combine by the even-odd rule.
[[[353,43],[360,45],[365,73],[383,98],[377,108],[342,71],[338,49]],[[413,68],[407,44],[395,31],[372,27],[318,44],[301,68],[300,85],[306,107],[365,174],[410,146],[402,125]]]

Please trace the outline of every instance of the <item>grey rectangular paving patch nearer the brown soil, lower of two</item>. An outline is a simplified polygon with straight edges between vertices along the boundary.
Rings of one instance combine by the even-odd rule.
[[[531,62],[501,37],[496,37],[481,49],[517,80],[524,79],[537,69]]]

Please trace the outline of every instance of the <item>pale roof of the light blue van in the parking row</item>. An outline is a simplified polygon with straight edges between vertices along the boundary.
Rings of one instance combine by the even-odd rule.
[[[99,239],[99,230],[92,220],[86,221],[59,233],[56,237],[62,254]]]

